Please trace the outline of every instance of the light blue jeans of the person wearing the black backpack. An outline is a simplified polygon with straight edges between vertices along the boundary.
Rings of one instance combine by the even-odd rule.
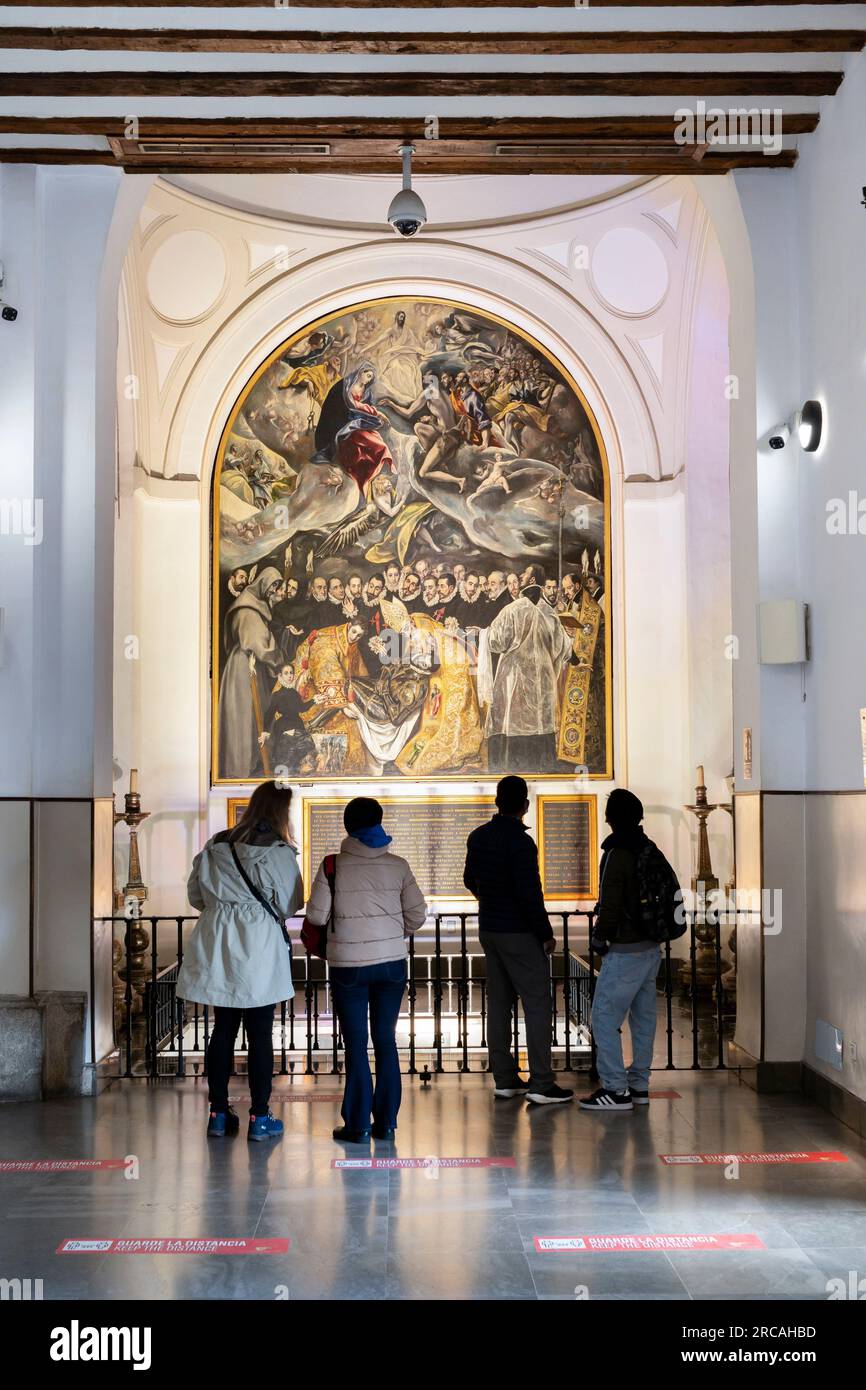
[[[598,1074],[607,1091],[634,1087],[649,1090],[652,1048],[656,1038],[656,974],[659,948],[626,955],[610,951],[602,960],[592,999],[592,1037]],[[631,1066],[623,1062],[620,1029],[628,1019]]]

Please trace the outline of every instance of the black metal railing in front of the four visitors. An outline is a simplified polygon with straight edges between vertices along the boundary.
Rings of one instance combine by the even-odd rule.
[[[550,956],[552,1045],[557,1070],[595,1070],[592,997],[601,965],[589,949],[591,912],[549,913],[556,935]],[[203,1074],[213,1026],[206,1005],[177,997],[185,927],[192,916],[100,917],[111,922],[124,960],[115,974],[117,1074],[124,1077]],[[278,1004],[274,1030],[279,1074],[332,1074],[343,1069],[339,1023],[331,1001],[328,963],[310,956],[292,929],[295,995]],[[142,930],[143,929],[143,930]],[[663,1070],[724,1069],[734,991],[726,981],[721,922],[689,919],[684,954],[664,947],[659,958],[659,1037]],[[436,913],[409,941],[409,983],[398,1022],[403,1070],[423,1080],[449,1070],[487,1069],[487,959],[477,916]],[[521,1047],[514,1011],[514,1048]],[[243,1030],[236,1065],[243,1065]]]

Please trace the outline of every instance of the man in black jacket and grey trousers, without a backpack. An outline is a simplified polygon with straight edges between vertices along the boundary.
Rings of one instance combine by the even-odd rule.
[[[478,899],[478,937],[487,958],[487,1034],[493,1095],[525,1095],[537,1105],[570,1101],[550,1065],[550,966],[556,948],[545,912],[538,849],[523,817],[530,809],[523,777],[496,787],[496,815],[468,837],[463,883]],[[530,1058],[524,1081],[512,1052],[512,1015],[523,1004]]]

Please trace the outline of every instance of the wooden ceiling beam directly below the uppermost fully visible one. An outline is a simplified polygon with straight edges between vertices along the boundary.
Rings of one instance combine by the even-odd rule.
[[[831,71],[770,72],[3,72],[0,96],[567,97],[833,96]]]

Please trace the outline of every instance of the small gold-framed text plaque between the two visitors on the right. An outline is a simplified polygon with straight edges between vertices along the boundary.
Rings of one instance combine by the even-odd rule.
[[[598,821],[592,795],[538,798],[538,858],[548,902],[598,897]]]

